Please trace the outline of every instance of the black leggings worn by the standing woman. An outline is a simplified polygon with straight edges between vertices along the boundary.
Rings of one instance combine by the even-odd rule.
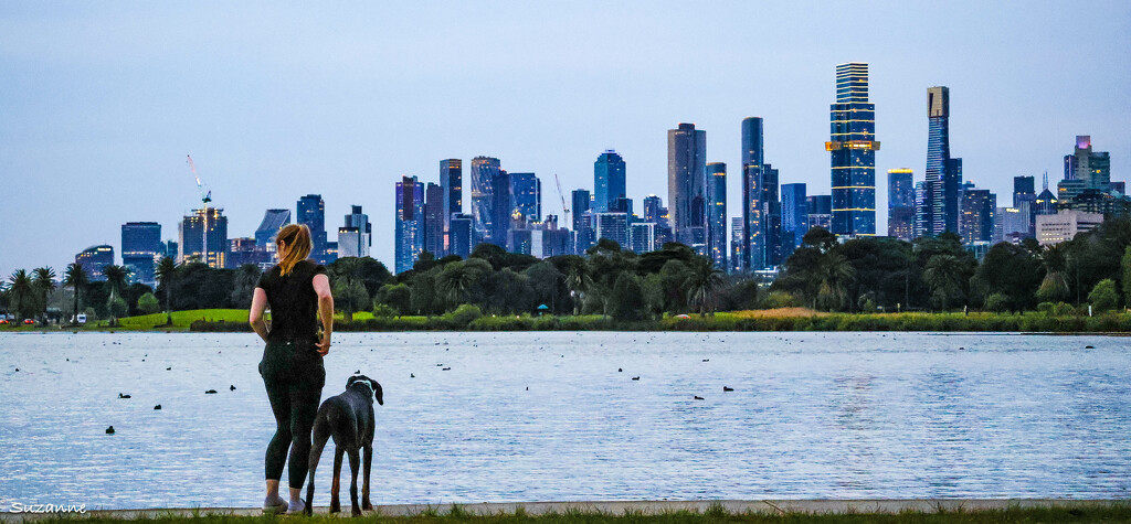
[[[311,356],[313,353],[313,356]],[[310,464],[310,431],[318,414],[326,370],[312,346],[268,342],[259,374],[275,413],[275,436],[267,445],[264,470],[267,480],[279,480],[291,449],[291,487],[301,489]]]

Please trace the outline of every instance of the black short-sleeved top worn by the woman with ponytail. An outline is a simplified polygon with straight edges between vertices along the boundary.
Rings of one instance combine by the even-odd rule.
[[[311,260],[294,264],[286,276],[276,264],[259,278],[257,287],[267,294],[271,308],[271,330],[267,340],[318,342],[318,294],[314,276],[326,274],[326,268]]]

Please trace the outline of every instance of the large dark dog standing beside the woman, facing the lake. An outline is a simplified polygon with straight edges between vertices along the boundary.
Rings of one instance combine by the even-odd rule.
[[[349,453],[349,470],[353,483],[349,486],[349,499],[353,503],[352,515],[360,516],[362,508],[373,509],[369,503],[369,473],[373,465],[373,399],[385,405],[381,385],[365,375],[353,375],[346,381],[346,391],[331,396],[318,408],[314,418],[314,442],[310,448],[310,480],[307,486],[307,515],[314,507],[314,470],[322,456],[326,442],[334,437],[334,482],[330,487],[330,513],[342,510],[338,501],[338,478],[342,474],[342,455]],[[357,466],[361,460],[359,452],[365,452],[365,482],[362,487],[362,505],[357,506]]]

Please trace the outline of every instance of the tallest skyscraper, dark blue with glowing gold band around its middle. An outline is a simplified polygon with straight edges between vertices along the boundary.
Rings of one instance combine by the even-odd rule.
[[[875,235],[875,104],[867,102],[867,64],[837,66],[837,102],[829,106],[832,233]]]

